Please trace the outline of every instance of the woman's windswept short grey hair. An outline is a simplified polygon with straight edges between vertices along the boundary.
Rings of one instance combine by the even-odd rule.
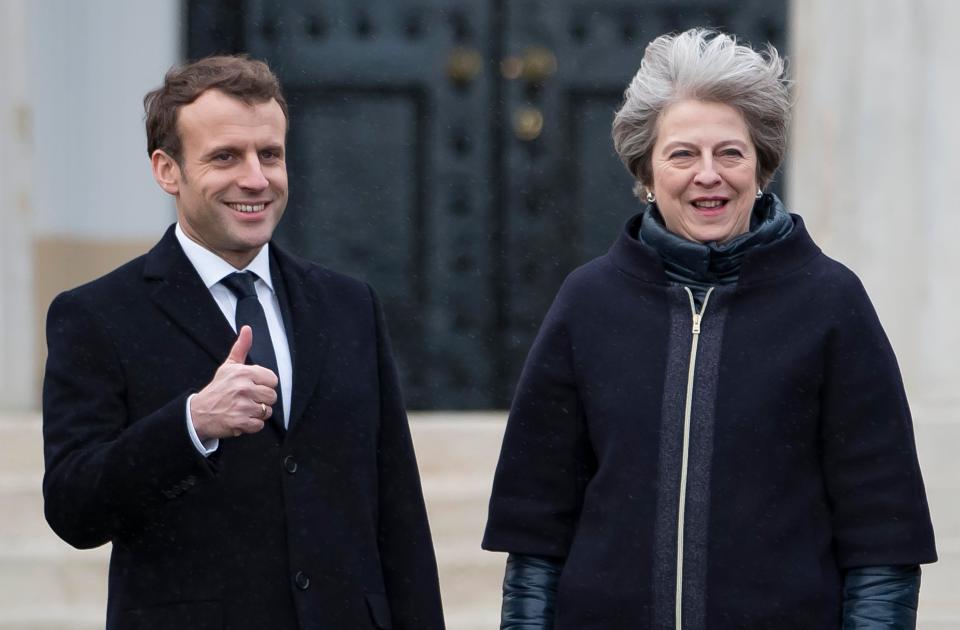
[[[725,103],[740,112],[757,149],[757,182],[769,184],[783,160],[790,122],[784,60],[771,44],[761,54],[733,36],[694,28],[650,42],[613,119],[613,146],[637,180],[637,196],[653,183],[660,114],[687,99]]]

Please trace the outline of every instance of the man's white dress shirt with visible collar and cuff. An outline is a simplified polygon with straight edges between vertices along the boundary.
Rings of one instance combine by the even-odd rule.
[[[280,301],[277,299],[276,291],[273,290],[273,278],[270,276],[270,244],[264,245],[249,265],[243,269],[236,269],[199,243],[190,240],[179,223],[177,223],[174,232],[180,247],[187,255],[187,259],[197,270],[204,286],[210,291],[210,295],[213,296],[234,332],[237,331],[237,296],[220,281],[237,271],[252,271],[256,274],[257,280],[254,282],[254,288],[257,290],[257,299],[260,300],[263,313],[266,315],[267,328],[270,330],[270,339],[273,341],[273,351],[277,356],[277,369],[280,371],[278,376],[280,377],[280,391],[283,395],[283,424],[289,426],[290,402],[293,395],[293,362],[290,359],[290,344],[287,342],[287,333],[283,327]],[[227,357],[223,358],[226,360]],[[192,398],[193,396],[187,398],[187,431],[190,433],[190,439],[197,450],[203,455],[209,455],[217,450],[220,440],[214,438],[205,442],[200,441],[197,430],[193,426],[193,419],[190,416],[190,400]]]

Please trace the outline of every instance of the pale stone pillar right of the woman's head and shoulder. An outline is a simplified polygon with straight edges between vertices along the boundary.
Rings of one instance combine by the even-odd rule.
[[[915,408],[960,421],[953,0],[791,3],[789,206],[863,280]]]

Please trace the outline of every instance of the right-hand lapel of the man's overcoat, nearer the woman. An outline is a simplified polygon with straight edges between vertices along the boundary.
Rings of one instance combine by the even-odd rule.
[[[327,364],[329,331],[325,314],[329,312],[328,295],[323,284],[311,277],[308,267],[273,243],[270,252],[276,263],[272,268],[282,277],[280,286],[286,293],[285,301],[289,307],[289,316],[284,314],[284,324],[293,361],[293,400],[290,402],[288,428],[288,432],[292,432],[297,429],[300,416]],[[284,304],[282,297],[281,305]]]

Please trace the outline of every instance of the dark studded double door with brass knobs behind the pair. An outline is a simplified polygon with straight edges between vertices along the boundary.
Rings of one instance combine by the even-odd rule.
[[[784,50],[786,0],[193,0],[189,53],[267,60],[291,112],[277,238],[370,282],[411,408],[505,407],[567,273],[639,209],[610,124],[646,43]]]

